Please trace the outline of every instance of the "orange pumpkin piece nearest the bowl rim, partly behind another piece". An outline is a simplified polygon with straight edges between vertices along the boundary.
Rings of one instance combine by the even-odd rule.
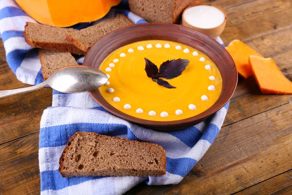
[[[252,76],[252,69],[248,63],[249,56],[254,55],[263,57],[248,45],[237,39],[231,41],[231,43],[225,47],[225,49],[234,60],[237,67],[237,72],[242,78],[248,78]]]

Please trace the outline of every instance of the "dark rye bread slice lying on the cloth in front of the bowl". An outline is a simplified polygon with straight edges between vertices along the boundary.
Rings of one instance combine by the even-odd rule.
[[[162,176],[166,155],[161,146],[96,133],[77,132],[59,160],[63,177]]]

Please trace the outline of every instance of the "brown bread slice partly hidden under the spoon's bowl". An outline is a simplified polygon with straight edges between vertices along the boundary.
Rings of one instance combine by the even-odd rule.
[[[60,68],[78,65],[77,61],[69,52],[38,49],[38,57],[40,59],[42,75],[45,80]]]

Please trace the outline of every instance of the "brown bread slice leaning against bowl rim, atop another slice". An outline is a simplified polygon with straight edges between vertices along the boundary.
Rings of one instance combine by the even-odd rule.
[[[70,32],[66,36],[68,42],[73,43],[79,49],[88,52],[92,45],[103,36],[119,28],[134,24],[123,14],[118,14],[115,18],[104,20],[98,24]]]

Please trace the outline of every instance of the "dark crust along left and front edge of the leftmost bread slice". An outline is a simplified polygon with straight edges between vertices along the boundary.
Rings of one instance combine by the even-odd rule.
[[[64,41],[63,42],[50,42],[50,41],[36,41],[34,40],[33,37],[31,37],[28,33],[28,28],[29,25],[32,22],[26,22],[25,26],[24,26],[24,39],[27,42],[27,44],[29,44],[32,47],[37,47],[37,48],[41,48],[41,49],[48,49],[48,50],[55,50],[55,51],[61,51],[61,52],[70,52],[73,54],[77,54],[77,55],[85,55],[86,52],[80,50],[78,47],[76,47],[74,44],[70,43],[70,42],[66,42],[65,37],[64,37]],[[39,25],[43,25],[43,24],[39,24]],[[58,28],[58,27],[55,27]]]

